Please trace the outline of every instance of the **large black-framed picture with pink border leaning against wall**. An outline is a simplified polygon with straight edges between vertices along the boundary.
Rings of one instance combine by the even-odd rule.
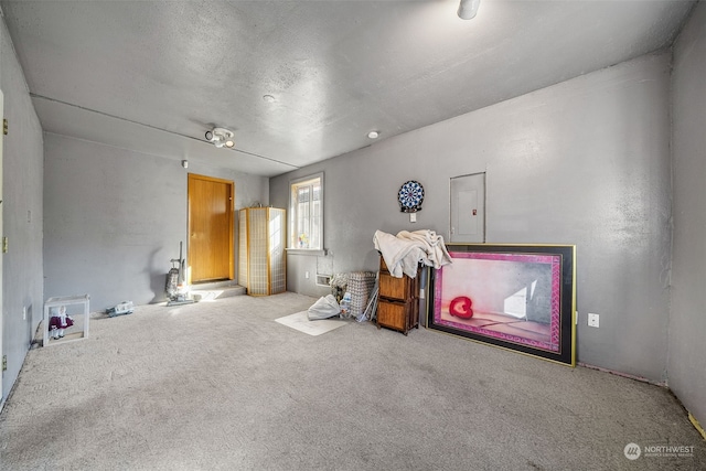
[[[427,328],[576,366],[576,246],[447,244]]]

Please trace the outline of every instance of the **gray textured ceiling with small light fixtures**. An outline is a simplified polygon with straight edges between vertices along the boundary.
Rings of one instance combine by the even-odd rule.
[[[694,2],[0,6],[45,131],[272,176],[664,49]]]

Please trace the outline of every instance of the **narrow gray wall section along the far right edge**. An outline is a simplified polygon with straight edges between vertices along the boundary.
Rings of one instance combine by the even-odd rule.
[[[706,4],[674,47],[674,246],[668,384],[706,426]]]

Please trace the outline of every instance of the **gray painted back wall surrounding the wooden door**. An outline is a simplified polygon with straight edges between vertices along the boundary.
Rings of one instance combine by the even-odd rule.
[[[186,256],[188,172],[234,181],[236,208],[268,203],[261,176],[52,133],[44,152],[44,296],[89,293],[92,311],[164,300],[180,240]]]

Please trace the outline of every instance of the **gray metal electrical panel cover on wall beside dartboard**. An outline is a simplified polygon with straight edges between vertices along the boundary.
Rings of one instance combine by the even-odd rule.
[[[485,172],[451,179],[451,242],[485,242]]]

